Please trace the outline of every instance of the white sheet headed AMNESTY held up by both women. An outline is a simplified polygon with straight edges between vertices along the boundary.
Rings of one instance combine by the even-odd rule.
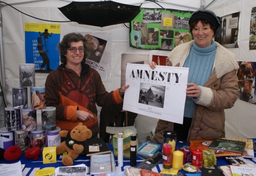
[[[127,63],[123,109],[183,123],[188,68]]]

